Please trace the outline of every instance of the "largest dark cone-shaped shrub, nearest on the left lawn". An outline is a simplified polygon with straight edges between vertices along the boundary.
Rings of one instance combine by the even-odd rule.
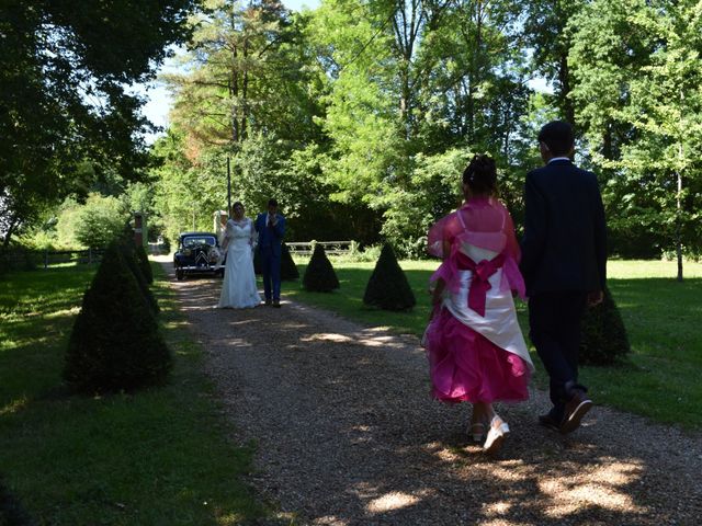
[[[131,390],[162,382],[170,367],[156,318],[113,242],[83,295],[64,378],[84,393]]]

